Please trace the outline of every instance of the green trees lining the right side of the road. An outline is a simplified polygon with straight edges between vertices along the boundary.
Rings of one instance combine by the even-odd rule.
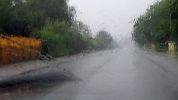
[[[166,50],[168,41],[178,44],[178,0],[159,0],[135,19],[133,38],[140,46],[154,44]]]

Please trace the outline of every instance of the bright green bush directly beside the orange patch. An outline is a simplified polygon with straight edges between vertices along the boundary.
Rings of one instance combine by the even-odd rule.
[[[64,56],[85,49],[82,35],[69,28],[64,21],[50,22],[33,35],[46,41],[48,53],[52,56]]]

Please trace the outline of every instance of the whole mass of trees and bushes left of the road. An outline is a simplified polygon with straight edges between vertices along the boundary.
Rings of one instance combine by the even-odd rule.
[[[43,54],[55,57],[114,46],[105,30],[93,37],[68,0],[0,0],[0,33],[40,38]]]

